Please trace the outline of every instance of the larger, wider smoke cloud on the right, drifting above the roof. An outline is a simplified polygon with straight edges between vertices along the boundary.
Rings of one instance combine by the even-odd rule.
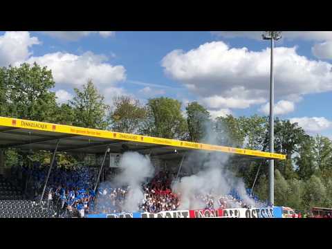
[[[218,134],[208,122],[205,125],[206,136],[204,142],[217,145]],[[223,135],[227,136],[227,135]],[[181,197],[178,210],[197,210],[205,208],[206,203],[196,196],[211,196],[214,207],[218,207],[218,199],[236,190],[248,205],[255,205],[255,201],[246,194],[246,188],[242,179],[237,178],[227,169],[226,165],[230,154],[221,152],[194,151],[187,156],[183,163],[183,169],[191,172],[191,176],[185,176],[172,183],[172,190]],[[228,202],[229,203],[229,202]],[[231,208],[240,208],[237,201],[231,203]]]

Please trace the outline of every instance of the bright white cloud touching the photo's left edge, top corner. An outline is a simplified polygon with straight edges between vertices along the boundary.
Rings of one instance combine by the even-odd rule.
[[[29,48],[41,44],[37,37],[30,37],[26,31],[10,31],[0,36],[0,66],[9,66],[24,61],[32,53]]]

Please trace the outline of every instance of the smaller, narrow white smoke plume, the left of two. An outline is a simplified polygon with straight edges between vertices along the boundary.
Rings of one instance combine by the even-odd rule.
[[[114,178],[114,182],[116,185],[129,185],[122,210],[137,212],[143,200],[142,183],[154,175],[154,167],[148,156],[129,151],[122,155],[120,169],[122,172]]]

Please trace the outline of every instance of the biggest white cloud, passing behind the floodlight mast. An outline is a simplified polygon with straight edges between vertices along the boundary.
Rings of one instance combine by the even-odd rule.
[[[190,51],[173,50],[162,60],[164,71],[196,93],[210,108],[240,108],[266,102],[270,49],[230,48],[205,43]],[[332,66],[298,55],[296,47],[275,48],[275,95],[290,100],[332,90]]]

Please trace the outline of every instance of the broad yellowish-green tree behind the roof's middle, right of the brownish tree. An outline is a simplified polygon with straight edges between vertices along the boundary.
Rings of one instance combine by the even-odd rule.
[[[147,111],[142,133],[161,138],[183,138],[187,124],[181,113],[181,102],[172,98],[153,98],[147,103]]]

